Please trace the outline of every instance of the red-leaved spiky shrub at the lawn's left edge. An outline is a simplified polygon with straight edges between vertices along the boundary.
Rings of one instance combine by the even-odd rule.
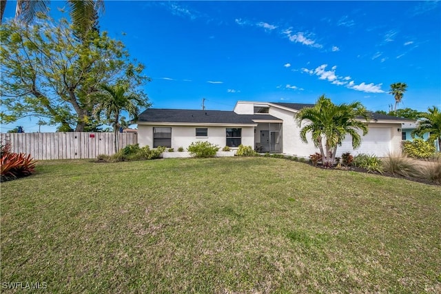
[[[0,158],[1,182],[32,175],[37,161],[25,153],[4,152]]]

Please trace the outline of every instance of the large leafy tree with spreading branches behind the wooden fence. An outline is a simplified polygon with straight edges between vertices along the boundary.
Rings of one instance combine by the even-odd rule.
[[[32,115],[64,131],[88,130],[96,126],[99,85],[123,81],[138,89],[150,80],[143,64],[130,61],[123,43],[107,32],[89,30],[79,38],[65,19],[40,17],[45,21],[31,27],[1,26],[2,124]]]

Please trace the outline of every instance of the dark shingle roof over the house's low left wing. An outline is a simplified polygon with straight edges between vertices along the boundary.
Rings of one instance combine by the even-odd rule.
[[[188,110],[149,108],[139,115],[139,122],[195,124],[256,124],[253,119],[280,121],[272,115],[238,115],[224,110]]]

